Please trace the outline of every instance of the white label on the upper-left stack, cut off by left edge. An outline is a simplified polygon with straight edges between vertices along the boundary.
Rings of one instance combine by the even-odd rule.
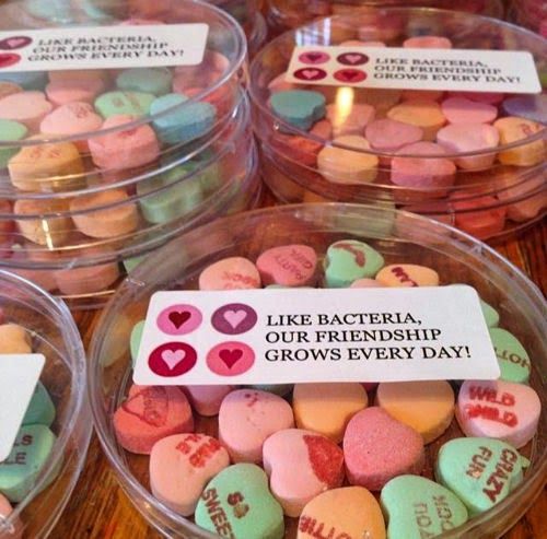
[[[0,74],[8,71],[196,66],[207,24],[154,24],[0,32]]]

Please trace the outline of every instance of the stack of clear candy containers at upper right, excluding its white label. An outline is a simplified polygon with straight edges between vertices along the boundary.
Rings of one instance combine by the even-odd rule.
[[[412,42],[407,39],[416,36],[441,36],[454,49],[529,51],[545,87],[545,39],[493,19],[386,8],[311,23],[276,38],[251,67],[249,93],[265,181],[283,202],[337,200],[397,207],[442,220],[481,239],[501,238],[539,220],[547,207],[545,92],[514,96],[284,81],[296,46],[349,43],[360,47],[382,42],[400,47],[405,42],[410,46]],[[304,129],[277,113],[272,96],[279,98],[281,92],[291,90],[323,95],[324,119]],[[453,128],[441,128],[462,121],[455,117],[458,113],[450,114],[451,107],[462,106],[488,110],[489,117],[479,120],[486,124],[464,130],[469,134],[474,129],[487,130],[491,144],[475,150],[452,144]],[[400,122],[414,121],[405,116],[404,110],[410,109],[424,114],[426,124],[439,124],[401,131]],[[485,125],[488,127],[481,127]],[[507,127],[512,125],[516,130],[510,128],[508,133]],[[393,133],[386,134],[386,127],[395,128],[396,140]],[[405,140],[397,145],[401,137]]]

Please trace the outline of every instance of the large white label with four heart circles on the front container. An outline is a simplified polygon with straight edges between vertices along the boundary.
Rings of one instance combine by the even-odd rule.
[[[494,379],[476,291],[158,292],[133,373],[141,385]]]

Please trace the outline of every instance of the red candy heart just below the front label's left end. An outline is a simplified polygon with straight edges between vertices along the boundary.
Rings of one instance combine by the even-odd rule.
[[[165,436],[194,431],[190,405],[177,387],[131,386],[113,422],[119,444],[142,455]]]

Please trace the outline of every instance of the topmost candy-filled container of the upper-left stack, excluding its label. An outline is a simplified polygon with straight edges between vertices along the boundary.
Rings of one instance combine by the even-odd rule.
[[[90,5],[105,9],[107,16],[90,15]],[[147,5],[149,9],[144,9]],[[32,90],[44,97],[32,118],[18,116],[26,132],[22,134],[21,128],[15,132],[11,127],[9,134],[0,134],[2,188],[18,192],[81,190],[90,183],[115,183],[120,173],[158,166],[173,152],[191,153],[230,124],[241,99],[240,77],[246,59],[240,25],[205,2],[3,2],[1,31],[181,23],[208,25],[206,52],[199,66],[30,74],[2,71],[0,82],[14,82],[19,87],[2,87],[0,118],[14,119],[12,101],[26,98],[26,94],[18,97],[4,92]],[[121,95],[109,94],[118,91]],[[3,99],[10,99],[9,104]],[[170,121],[174,115],[176,122]],[[191,117],[201,118],[200,124],[188,124]],[[125,145],[117,153],[121,140]],[[49,159],[54,152],[62,159]]]

